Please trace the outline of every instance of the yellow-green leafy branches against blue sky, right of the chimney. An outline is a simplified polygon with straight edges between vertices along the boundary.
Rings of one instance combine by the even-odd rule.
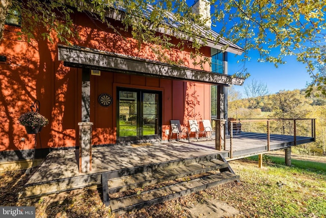
[[[306,64],[312,86],[323,84],[313,63],[326,62],[325,1],[214,1],[214,6],[214,21],[223,23],[221,34],[244,47],[244,59],[257,50],[259,61],[278,66],[293,55]],[[273,56],[272,51],[280,52]]]

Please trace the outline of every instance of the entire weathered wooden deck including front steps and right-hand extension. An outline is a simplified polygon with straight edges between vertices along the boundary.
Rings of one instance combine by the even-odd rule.
[[[269,150],[285,149],[294,146],[294,144],[307,143],[313,140],[314,138],[310,137],[296,137],[294,140],[293,136],[270,135]],[[103,191],[107,193],[103,196],[108,197],[108,193],[126,187],[143,187],[144,185],[210,172],[210,176],[204,175],[201,177],[202,180],[188,181],[191,182],[192,188],[181,190],[184,184],[177,184],[175,189],[178,191],[169,187],[167,190],[174,191],[166,197],[153,197],[153,200],[150,201],[144,200],[144,202],[134,203],[140,201],[138,196],[130,196],[131,200],[129,199],[126,203],[126,205],[130,205],[130,202],[133,202],[134,205],[138,206],[155,204],[207,187],[238,181],[239,177],[234,174],[227,160],[268,152],[267,141],[267,134],[241,132],[232,138],[232,152],[228,146],[230,145],[230,137],[226,139],[226,146],[223,151],[215,150],[215,140],[206,140],[205,138],[201,138],[199,141],[191,139],[191,142],[173,140],[147,143],[149,145],[134,147],[130,145],[94,147],[92,148],[92,171],[88,173],[79,173],[76,158],[78,154],[74,150],[53,151],[41,163],[37,171],[33,172],[19,197],[34,198],[91,186],[102,186]],[[233,157],[231,157],[231,153]],[[214,173],[218,169],[220,173]],[[129,180],[132,182],[127,184]],[[119,184],[115,185],[115,183]],[[150,191],[150,193],[155,191],[157,193],[162,191],[168,193],[167,190],[159,188]],[[109,201],[111,200],[103,199],[107,205]],[[137,208],[137,206],[130,206],[129,208],[129,206],[121,206],[120,203],[115,203],[121,202],[120,199],[111,202],[113,211],[126,212]]]

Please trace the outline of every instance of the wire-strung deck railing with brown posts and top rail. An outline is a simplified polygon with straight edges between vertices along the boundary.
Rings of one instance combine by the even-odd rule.
[[[234,137],[240,137],[244,133],[247,136],[250,135],[251,138],[255,138],[255,134],[257,137],[262,133],[266,134],[266,151],[270,151],[270,135],[272,134],[293,136],[293,145],[295,146],[298,136],[311,137],[315,141],[315,126],[315,118],[237,119],[229,122],[225,119],[215,119],[215,149],[222,151],[227,150],[226,148],[228,147],[230,149],[230,158],[232,158],[233,139]],[[228,145],[226,144],[227,141]]]

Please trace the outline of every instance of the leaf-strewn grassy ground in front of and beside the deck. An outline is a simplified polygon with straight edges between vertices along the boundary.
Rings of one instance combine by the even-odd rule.
[[[0,173],[0,205],[35,206],[36,217],[214,217],[209,207],[197,213],[194,209],[219,202],[239,211],[231,217],[326,217],[326,157],[315,159],[316,168],[297,162],[288,167],[266,157],[263,168],[255,160],[230,163],[240,175],[240,184],[224,184],[121,215],[111,215],[96,189],[17,201],[27,179],[24,171]]]

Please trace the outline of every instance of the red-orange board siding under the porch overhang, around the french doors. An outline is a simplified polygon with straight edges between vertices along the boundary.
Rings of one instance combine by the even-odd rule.
[[[106,76],[108,75],[108,76]],[[114,76],[110,76],[114,75]],[[103,78],[102,78],[103,76]],[[188,119],[209,119],[210,118],[210,98],[204,95],[210,94],[210,85],[189,83],[183,81],[139,77],[127,75],[125,82],[114,79],[119,78],[116,72],[101,72],[101,76],[95,78],[95,83],[91,89],[91,99],[97,99],[100,93],[108,93],[113,97],[113,104],[109,107],[101,107],[97,102],[91,106],[91,119],[93,120],[93,144],[114,144],[116,143],[116,123],[117,123],[117,87],[156,90],[162,92],[162,139],[167,140],[165,130],[170,129],[170,119],[180,119],[180,122],[187,125]],[[105,78],[105,79],[104,79]],[[147,80],[151,81],[150,86],[133,84],[132,81]],[[154,84],[156,84],[154,86]],[[91,87],[92,87],[91,85]],[[194,96],[194,98],[193,98]],[[208,109],[207,109],[208,108]],[[206,111],[205,111],[206,109]],[[94,111],[94,112],[92,112]],[[92,121],[91,120],[91,121]]]

